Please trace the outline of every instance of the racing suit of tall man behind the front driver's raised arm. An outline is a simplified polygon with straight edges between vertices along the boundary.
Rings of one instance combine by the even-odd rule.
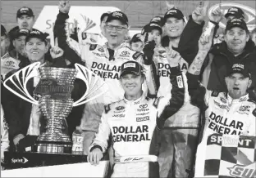
[[[171,63],[174,61],[167,59],[167,50],[165,47],[156,47],[153,60],[158,64],[158,76],[160,77],[160,87],[158,97],[169,96],[171,93]],[[181,71],[186,73],[188,63],[181,58],[179,61]],[[190,104],[190,96],[185,91],[186,100],[181,109],[165,122],[165,128],[162,130],[161,149],[158,158],[161,177],[187,177],[185,171],[191,170],[194,164],[194,154],[197,144],[197,134],[199,127],[199,108]],[[175,162],[175,170],[171,171],[171,164]]]

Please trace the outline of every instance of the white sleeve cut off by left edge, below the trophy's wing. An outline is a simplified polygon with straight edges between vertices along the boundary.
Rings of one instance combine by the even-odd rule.
[[[8,127],[7,121],[5,119],[2,105],[1,105],[1,158],[4,157],[4,152],[9,148],[9,136],[8,136]]]

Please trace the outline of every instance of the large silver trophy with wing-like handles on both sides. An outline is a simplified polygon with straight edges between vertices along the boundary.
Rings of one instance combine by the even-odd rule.
[[[39,83],[32,97],[26,85],[30,78],[35,77],[39,78]],[[75,78],[85,82],[86,91],[80,100],[74,102],[71,99],[71,91]],[[8,86],[10,82],[11,87]],[[45,132],[38,136],[34,148],[39,153],[52,154],[71,153],[72,142],[67,134],[66,117],[71,113],[72,107],[94,100],[107,91],[101,78],[79,64],[75,64],[75,69],[64,69],[40,66],[39,62],[33,63],[12,74],[3,84],[16,96],[33,105],[39,105],[43,118],[46,119],[46,127]],[[16,90],[13,87],[16,87]]]

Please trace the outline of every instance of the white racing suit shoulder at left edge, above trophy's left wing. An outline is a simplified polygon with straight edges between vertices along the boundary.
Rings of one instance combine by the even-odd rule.
[[[14,69],[20,69],[21,60],[16,60],[7,52],[1,57],[1,80],[5,80],[6,74]]]

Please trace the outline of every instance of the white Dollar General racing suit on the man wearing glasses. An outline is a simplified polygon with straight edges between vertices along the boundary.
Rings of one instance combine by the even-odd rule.
[[[142,64],[142,53],[132,51],[128,43],[122,43],[115,50],[108,49],[107,43],[103,46],[99,44],[90,44],[88,40],[76,42],[70,38],[68,34],[68,27],[65,22],[69,18],[68,14],[59,12],[57,20],[54,26],[54,35],[58,39],[59,47],[61,47],[65,53],[66,59],[71,60],[71,63],[80,63],[85,65],[93,73],[95,73],[100,79],[98,80],[98,86],[105,83],[102,90],[107,87],[107,92],[94,100],[86,103],[83,117],[81,118],[80,127],[84,131],[84,154],[88,154],[88,148],[94,139],[95,132],[98,131],[98,124],[100,122],[101,115],[103,113],[104,105],[110,104],[117,100],[121,100],[124,96],[124,91],[121,88],[120,82],[120,70],[122,63],[127,60],[136,60]],[[149,84],[152,86],[154,93],[156,87],[154,86],[153,76],[151,75],[152,69],[148,65],[146,68],[146,81],[151,81]],[[144,83],[144,91],[147,91],[147,85]],[[151,90],[150,89],[150,90]],[[100,91],[98,90],[97,93]],[[89,98],[95,96],[92,94]]]

